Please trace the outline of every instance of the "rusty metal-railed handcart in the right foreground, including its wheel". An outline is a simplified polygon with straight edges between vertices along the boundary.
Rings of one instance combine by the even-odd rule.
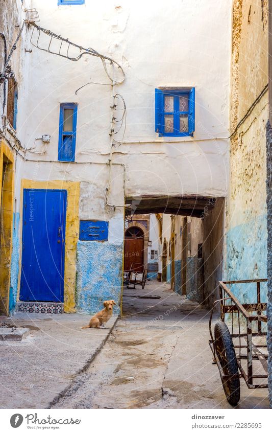
[[[214,302],[211,311],[209,345],[231,405],[239,402],[240,378],[249,389],[267,387],[267,305],[261,303],[261,282],[267,282],[267,279],[219,282],[220,299]],[[241,304],[229,289],[233,284],[246,284],[245,289],[250,286],[252,289],[256,284],[256,302]],[[221,321],[215,323],[213,335],[212,318],[217,303],[220,303]]]

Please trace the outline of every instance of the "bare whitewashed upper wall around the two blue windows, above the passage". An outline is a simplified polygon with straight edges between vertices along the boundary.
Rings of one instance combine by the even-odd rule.
[[[228,140],[213,139],[229,135],[230,5],[230,0],[158,1],[156,7],[85,0],[82,6],[57,6],[57,0],[33,0],[42,27],[113,57],[126,72],[126,81],[116,86],[127,105],[125,143],[114,149],[113,161],[126,165],[127,195],[226,195]],[[35,48],[29,56],[31,100],[19,133],[27,147],[44,133],[52,139],[43,156],[27,156],[57,159],[59,103],[77,102],[76,161],[106,163],[111,86],[91,84],[75,95],[88,81],[109,83],[101,61],[86,56],[71,62]],[[163,85],[195,86],[194,138],[164,139],[155,133],[155,88]],[[115,138],[121,140],[122,131]],[[26,163],[26,177],[34,167]],[[110,201],[116,204],[123,203],[122,170],[113,168]],[[99,218],[107,171],[95,164],[41,164],[38,176],[84,180],[82,198],[91,196],[92,204],[81,201],[81,216]]]

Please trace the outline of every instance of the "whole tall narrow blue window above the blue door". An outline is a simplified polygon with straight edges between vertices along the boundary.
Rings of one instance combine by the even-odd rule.
[[[60,105],[59,161],[75,161],[78,104]]]

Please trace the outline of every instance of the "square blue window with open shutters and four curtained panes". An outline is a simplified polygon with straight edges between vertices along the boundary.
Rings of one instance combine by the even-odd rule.
[[[194,87],[155,89],[155,130],[159,136],[193,135]]]

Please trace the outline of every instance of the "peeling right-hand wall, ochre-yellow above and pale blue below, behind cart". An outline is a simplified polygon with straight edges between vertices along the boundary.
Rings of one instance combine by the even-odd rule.
[[[268,2],[233,2],[231,132],[268,82]],[[231,139],[225,279],[266,277],[266,137],[268,93]],[[254,302],[253,288],[233,287],[240,301]],[[266,299],[266,286],[262,285]]]

